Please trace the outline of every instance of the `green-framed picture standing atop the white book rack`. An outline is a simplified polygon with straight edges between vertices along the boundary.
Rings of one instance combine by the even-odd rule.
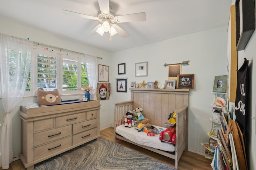
[[[227,76],[215,76],[212,92],[227,92]]]

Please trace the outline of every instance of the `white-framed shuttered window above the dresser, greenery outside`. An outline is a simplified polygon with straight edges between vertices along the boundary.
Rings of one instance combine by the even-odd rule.
[[[26,93],[26,96],[33,96],[38,88],[57,88],[60,94],[78,94],[81,93],[78,91],[79,87],[89,84],[86,62],[82,54],[35,47],[32,56],[28,80],[30,85],[27,90],[29,93]]]

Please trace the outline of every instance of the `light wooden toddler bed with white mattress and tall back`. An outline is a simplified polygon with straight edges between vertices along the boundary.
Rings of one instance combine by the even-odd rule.
[[[121,139],[172,158],[175,160],[175,168],[178,169],[178,161],[182,152],[188,150],[189,90],[137,88],[130,90],[131,101],[115,104],[114,141]],[[144,117],[148,118],[149,123],[156,127],[166,127],[164,123],[168,122],[168,115],[176,109],[176,144],[162,143],[159,140],[159,135],[149,137],[146,133],[138,132],[133,127],[124,127],[123,116],[128,110],[134,110],[136,107],[143,108]]]

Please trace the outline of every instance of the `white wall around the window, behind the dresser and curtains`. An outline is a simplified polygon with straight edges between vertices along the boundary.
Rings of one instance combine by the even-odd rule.
[[[102,59],[98,59],[99,64],[106,64],[110,65],[110,54],[99,50],[95,49],[92,47],[89,47],[87,45],[83,45],[82,43],[70,41],[68,39],[63,39],[54,35],[50,35],[48,33],[44,33],[42,31],[38,31],[35,29],[31,29],[29,27],[19,25],[17,23],[12,23],[7,20],[3,20],[0,18],[0,32],[5,33],[8,35],[13,35],[15,37],[20,37],[27,39],[29,38],[31,41],[36,41],[56,47],[60,47],[63,49],[68,49],[71,51],[77,51],[80,53],[85,53],[89,54],[92,56],[97,56],[97,57],[102,57]],[[80,99],[78,96],[61,96],[63,100],[70,100],[70,99]],[[27,104],[31,102],[37,102],[36,97],[28,97],[28,98],[23,98],[23,100],[20,102],[19,106],[22,104]],[[110,105],[110,101],[100,101],[100,104],[102,105],[101,111],[100,111],[100,122],[102,122],[101,126],[108,126],[109,122],[104,121],[106,119],[106,115],[108,115],[108,109],[104,109],[107,106]],[[13,150],[14,150],[14,157],[17,157],[21,153],[21,121],[19,117],[19,106],[16,107],[14,111],[12,111],[10,114],[12,115],[12,131],[13,131]],[[106,112],[105,112],[106,111]],[[4,107],[2,103],[2,99],[0,99],[0,122],[2,124],[3,122],[3,116],[4,116]],[[2,128],[1,128],[2,129]],[[32,139],[33,140],[33,139]]]

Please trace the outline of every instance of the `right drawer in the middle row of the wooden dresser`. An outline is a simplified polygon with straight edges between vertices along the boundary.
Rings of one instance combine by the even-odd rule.
[[[73,134],[97,127],[98,119],[83,121],[73,125]]]

